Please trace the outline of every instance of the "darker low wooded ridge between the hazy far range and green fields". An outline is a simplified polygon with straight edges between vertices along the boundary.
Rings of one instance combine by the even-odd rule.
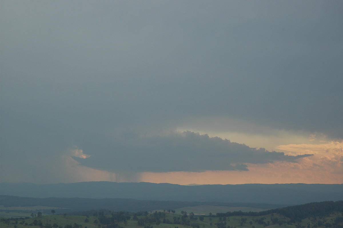
[[[89,199],[89,198],[33,198],[0,195],[0,211],[26,212],[41,211],[50,214],[51,208],[57,213],[84,212],[98,209],[111,211],[152,211],[156,209],[178,209],[182,207],[213,206],[239,207],[239,208],[279,208],[287,205],[265,204],[265,203],[220,203],[220,202],[188,202],[188,201],[156,201],[156,200],[134,200],[134,199]],[[48,207],[49,209],[46,209]],[[40,208],[40,209],[37,209]],[[260,210],[259,210],[260,211]],[[213,211],[214,212],[214,211]],[[93,213],[91,213],[93,214]]]

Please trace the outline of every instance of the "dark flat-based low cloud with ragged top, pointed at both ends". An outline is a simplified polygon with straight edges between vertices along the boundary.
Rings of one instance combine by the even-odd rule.
[[[248,170],[243,163],[296,162],[298,158],[311,156],[269,152],[190,131],[113,141],[111,148],[98,148],[89,155],[89,158],[75,159],[81,165],[113,172]]]

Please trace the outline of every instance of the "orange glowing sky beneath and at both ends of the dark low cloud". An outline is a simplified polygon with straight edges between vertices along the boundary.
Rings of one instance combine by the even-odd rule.
[[[292,155],[314,155],[293,163],[278,161],[268,164],[247,164],[249,171],[143,172],[140,174],[140,181],[173,184],[343,183],[343,142],[289,144],[277,146],[276,149]],[[76,152],[73,150],[72,154],[88,156],[81,150]],[[70,182],[119,180],[115,173],[80,166],[71,157],[66,157],[66,169],[72,173]]]

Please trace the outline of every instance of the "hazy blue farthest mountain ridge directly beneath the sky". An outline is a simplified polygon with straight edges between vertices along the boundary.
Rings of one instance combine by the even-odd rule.
[[[0,194],[21,197],[122,198],[154,201],[265,203],[298,205],[343,200],[343,184],[227,184],[78,182],[0,183]]]

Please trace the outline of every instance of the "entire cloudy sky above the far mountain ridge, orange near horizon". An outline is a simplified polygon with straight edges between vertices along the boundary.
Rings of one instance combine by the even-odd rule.
[[[343,183],[342,1],[0,4],[0,182]]]

